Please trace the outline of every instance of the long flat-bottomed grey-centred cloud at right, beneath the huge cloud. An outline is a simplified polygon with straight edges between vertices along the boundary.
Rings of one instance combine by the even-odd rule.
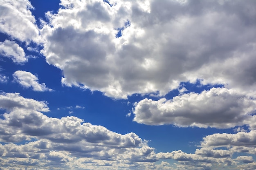
[[[227,88],[187,93],[171,100],[143,99],[135,103],[134,121],[148,125],[231,128],[252,119],[256,101]],[[248,123],[249,124],[249,123]]]

